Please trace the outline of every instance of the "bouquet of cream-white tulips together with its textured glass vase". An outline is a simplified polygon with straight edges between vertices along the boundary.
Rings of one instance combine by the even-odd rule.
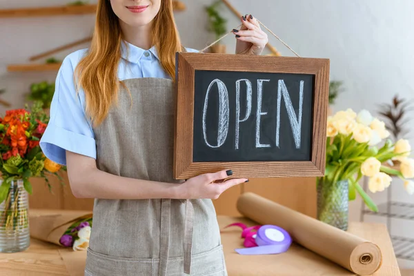
[[[395,144],[387,139],[390,133],[383,121],[367,110],[357,115],[353,110],[339,111],[328,117],[326,128],[326,169],[317,180],[318,219],[346,230],[348,227],[348,200],[357,193],[366,206],[377,211],[377,206],[358,184],[369,177],[368,188],[380,192],[391,184],[390,175],[404,179],[408,193],[413,193],[414,160],[408,158],[411,146],[404,139]],[[381,145],[381,146],[380,146]],[[395,161],[400,162],[396,168]]]

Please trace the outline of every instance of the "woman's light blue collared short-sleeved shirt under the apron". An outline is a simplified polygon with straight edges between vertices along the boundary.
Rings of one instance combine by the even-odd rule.
[[[128,51],[127,51],[128,49]],[[198,52],[186,48],[188,52]],[[66,165],[66,150],[96,159],[95,135],[85,113],[85,94],[75,90],[74,70],[86,53],[86,49],[72,52],[63,59],[57,73],[55,94],[50,106],[50,121],[44,132],[40,147],[48,159]],[[119,79],[157,77],[170,79],[164,71],[155,47],[144,50],[126,43],[121,48]]]

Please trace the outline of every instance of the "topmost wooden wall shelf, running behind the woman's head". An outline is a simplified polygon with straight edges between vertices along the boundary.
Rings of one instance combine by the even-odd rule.
[[[181,1],[172,1],[174,10],[185,10],[186,6]],[[17,8],[0,10],[1,17],[52,17],[57,15],[71,15],[71,14],[91,14],[95,13],[97,5],[78,5],[78,6],[57,6],[57,7],[43,7],[43,8]]]

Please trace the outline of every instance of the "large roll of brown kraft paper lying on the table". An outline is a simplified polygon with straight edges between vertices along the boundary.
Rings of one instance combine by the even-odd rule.
[[[297,244],[357,275],[371,275],[382,264],[381,250],[376,244],[254,193],[241,195],[237,210],[259,224],[284,228]]]

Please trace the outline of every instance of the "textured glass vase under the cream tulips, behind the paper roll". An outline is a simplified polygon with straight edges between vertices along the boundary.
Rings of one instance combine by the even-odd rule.
[[[317,183],[317,219],[341,230],[348,229],[348,180]]]

